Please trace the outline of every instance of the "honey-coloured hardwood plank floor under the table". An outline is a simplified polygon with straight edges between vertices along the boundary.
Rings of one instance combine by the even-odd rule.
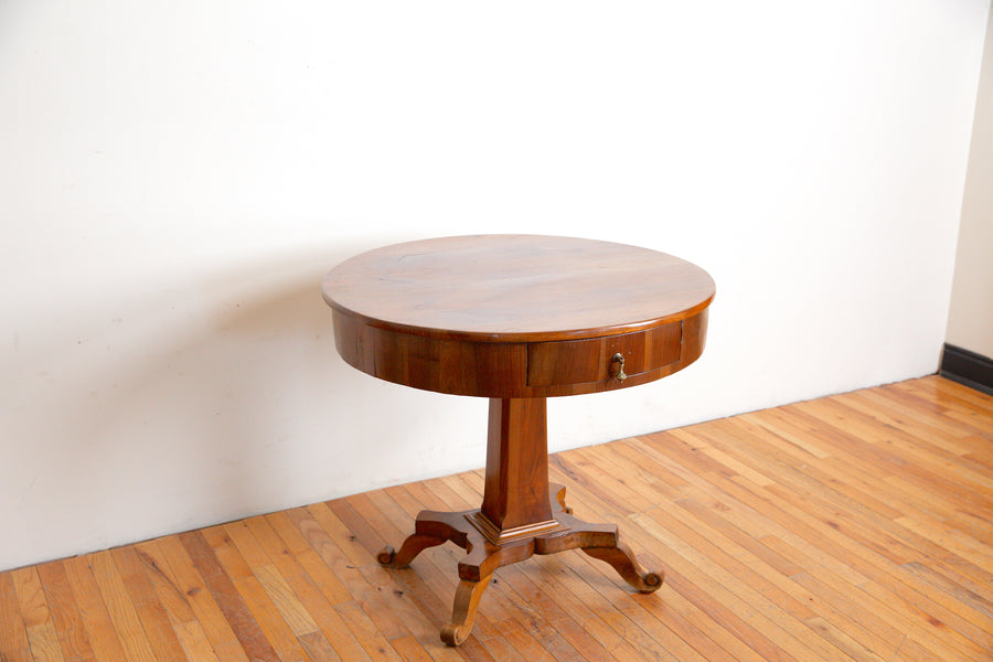
[[[375,553],[482,471],[0,573],[0,660],[993,661],[993,397],[941,377],[552,457],[578,551],[501,568],[446,648],[462,552]]]

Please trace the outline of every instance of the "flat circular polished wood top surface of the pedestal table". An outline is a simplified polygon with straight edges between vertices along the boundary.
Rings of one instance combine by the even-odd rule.
[[[324,277],[324,300],[380,328],[484,342],[627,333],[694,316],[715,286],[648,248],[573,237],[474,235],[376,248]]]

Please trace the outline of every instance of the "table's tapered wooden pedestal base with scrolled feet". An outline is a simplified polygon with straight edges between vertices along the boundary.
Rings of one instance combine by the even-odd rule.
[[[618,540],[616,524],[577,520],[565,505],[565,488],[553,485],[549,493],[545,412],[545,398],[492,398],[482,506],[421,511],[399,552],[386,547],[378,554],[380,563],[404,568],[421,551],[448,541],[467,551],[459,563],[451,622],[441,629],[448,644],[458,645],[469,636],[493,570],[534,554],[578,547],[609,563],[641,592],[662,585],[662,574],[642,570]]]

